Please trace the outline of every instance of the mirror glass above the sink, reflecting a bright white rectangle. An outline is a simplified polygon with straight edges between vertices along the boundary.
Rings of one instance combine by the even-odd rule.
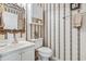
[[[25,9],[21,3],[0,3],[0,30],[25,30]]]

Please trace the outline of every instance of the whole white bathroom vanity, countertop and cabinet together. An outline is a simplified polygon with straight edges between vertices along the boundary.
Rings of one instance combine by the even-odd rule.
[[[25,43],[24,43],[25,42]],[[0,47],[0,61],[34,61],[35,43],[20,41]]]

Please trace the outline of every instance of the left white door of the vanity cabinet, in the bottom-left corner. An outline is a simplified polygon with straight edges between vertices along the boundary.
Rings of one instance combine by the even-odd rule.
[[[21,60],[21,54],[16,53],[16,52],[13,52],[13,53],[10,53],[8,55],[2,56],[1,60],[2,61],[20,61]]]

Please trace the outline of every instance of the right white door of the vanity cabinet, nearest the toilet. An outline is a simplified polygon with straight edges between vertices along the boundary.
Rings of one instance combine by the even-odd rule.
[[[26,48],[23,50],[22,61],[35,61],[35,47]]]

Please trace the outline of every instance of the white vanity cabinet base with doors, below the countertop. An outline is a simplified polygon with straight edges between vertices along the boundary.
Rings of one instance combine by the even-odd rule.
[[[9,52],[0,57],[1,61],[34,61],[35,47],[23,48],[17,51]]]

